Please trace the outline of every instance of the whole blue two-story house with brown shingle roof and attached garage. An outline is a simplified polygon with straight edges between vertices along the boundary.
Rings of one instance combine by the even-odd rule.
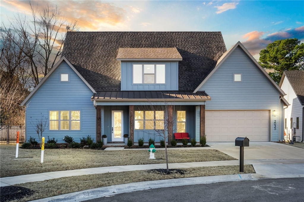
[[[278,141],[285,93],[220,32],[68,32],[60,61],[24,100],[26,134],[156,142],[166,127],[199,141]],[[166,120],[173,120],[166,123]]]

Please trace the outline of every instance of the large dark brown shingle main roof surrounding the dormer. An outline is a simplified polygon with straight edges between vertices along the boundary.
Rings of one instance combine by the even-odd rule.
[[[119,48],[174,47],[181,91],[193,91],[226,52],[221,32],[67,32],[62,56],[96,91],[120,91]]]

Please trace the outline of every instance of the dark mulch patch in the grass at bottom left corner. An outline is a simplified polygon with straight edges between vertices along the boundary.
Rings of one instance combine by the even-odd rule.
[[[17,187],[17,186],[6,186],[0,187],[0,201],[10,201],[10,200],[18,200],[23,197],[30,196],[34,194],[33,190],[30,190],[25,187]]]

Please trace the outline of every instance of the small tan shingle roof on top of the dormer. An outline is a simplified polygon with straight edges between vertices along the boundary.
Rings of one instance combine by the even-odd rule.
[[[119,48],[117,60],[182,60],[174,48]]]

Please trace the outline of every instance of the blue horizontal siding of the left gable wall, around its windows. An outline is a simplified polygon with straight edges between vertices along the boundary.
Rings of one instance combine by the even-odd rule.
[[[60,82],[60,73],[69,74],[69,82]],[[75,142],[80,142],[80,138],[91,135],[96,141],[96,110],[91,101],[92,91],[79,78],[79,76],[62,62],[60,66],[50,75],[43,85],[26,103],[26,138],[30,136],[38,140],[38,135],[34,129],[36,119],[47,118],[47,126],[43,132],[45,142],[47,138],[55,138],[58,143],[64,143],[64,136],[71,136]],[[80,110],[81,130],[50,130],[49,111],[50,110]],[[60,116],[60,114],[59,114]]]

